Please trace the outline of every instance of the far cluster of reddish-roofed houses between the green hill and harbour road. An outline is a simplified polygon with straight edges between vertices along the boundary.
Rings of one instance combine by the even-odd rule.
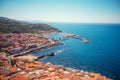
[[[37,46],[50,42],[48,38],[40,34],[20,33],[3,34],[0,33],[0,50],[9,54],[20,53]]]

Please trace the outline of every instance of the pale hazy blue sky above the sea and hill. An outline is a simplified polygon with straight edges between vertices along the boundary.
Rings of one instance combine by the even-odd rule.
[[[0,0],[0,16],[52,22],[120,23],[120,0]]]

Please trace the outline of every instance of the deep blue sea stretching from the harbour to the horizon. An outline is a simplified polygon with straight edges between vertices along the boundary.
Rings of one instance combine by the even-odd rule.
[[[63,46],[37,51],[33,55],[39,56],[64,49],[63,52],[47,57],[42,62],[92,71],[120,80],[120,24],[49,24],[64,32],[84,37],[90,40],[90,43],[70,38],[62,41],[65,44]]]

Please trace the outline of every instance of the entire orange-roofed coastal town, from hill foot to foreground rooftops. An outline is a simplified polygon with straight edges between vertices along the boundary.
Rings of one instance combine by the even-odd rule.
[[[48,38],[47,35],[45,33],[0,33],[0,79],[111,80],[99,73],[74,70],[35,60],[37,57],[30,55],[30,52],[62,45],[59,41]],[[51,55],[54,56],[54,53],[47,56]]]

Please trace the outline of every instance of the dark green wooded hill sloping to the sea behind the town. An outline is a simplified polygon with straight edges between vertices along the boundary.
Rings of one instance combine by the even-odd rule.
[[[39,33],[41,31],[61,32],[57,28],[54,28],[48,24],[28,23],[25,21],[0,17],[0,32],[2,33]]]

